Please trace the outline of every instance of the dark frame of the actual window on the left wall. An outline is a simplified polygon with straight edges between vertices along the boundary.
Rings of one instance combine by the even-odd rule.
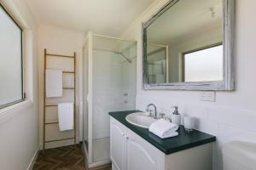
[[[20,57],[21,57],[21,59],[20,59],[20,61],[21,61],[20,62],[20,64],[21,64],[21,71],[20,71],[20,74],[21,74],[21,99],[0,105],[0,110],[2,110],[3,108],[18,104],[18,103],[26,100],[26,94],[25,94],[25,90],[24,90],[24,54],[23,54],[23,43],[24,43],[23,42],[23,33],[24,33],[24,31],[23,31],[22,27],[15,21],[15,19],[12,17],[12,15],[9,14],[7,8],[4,8],[2,3],[0,3],[0,8],[3,8],[3,11],[9,16],[9,18],[11,20],[14,21],[15,25],[20,29]]]

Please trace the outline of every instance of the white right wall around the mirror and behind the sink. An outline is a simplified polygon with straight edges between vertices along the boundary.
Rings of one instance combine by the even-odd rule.
[[[221,147],[235,140],[256,141],[256,59],[254,16],[256,2],[236,0],[236,91],[217,92],[216,102],[200,101],[200,92],[188,91],[144,91],[141,45],[141,22],[147,20],[166,0],[158,0],[143,16],[136,20],[124,34],[138,41],[137,52],[137,109],[145,110],[148,103],[157,105],[159,111],[172,112],[171,106],[178,105],[183,115],[198,118],[196,128],[217,136],[214,148],[214,169],[222,169]]]

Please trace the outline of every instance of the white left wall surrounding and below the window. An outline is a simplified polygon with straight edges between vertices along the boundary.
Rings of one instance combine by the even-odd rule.
[[[0,168],[25,170],[38,150],[37,24],[20,0],[0,0],[24,31],[27,99],[0,111]]]

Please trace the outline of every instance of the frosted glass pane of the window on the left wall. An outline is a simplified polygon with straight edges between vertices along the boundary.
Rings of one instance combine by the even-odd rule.
[[[23,99],[22,30],[0,6],[0,109]]]

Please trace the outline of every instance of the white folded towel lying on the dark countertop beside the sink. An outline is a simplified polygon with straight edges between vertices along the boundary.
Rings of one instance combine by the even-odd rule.
[[[178,129],[177,124],[169,122],[165,119],[160,119],[154,123],[152,123],[149,127],[149,132],[154,133],[159,136],[161,139],[170,138],[173,136],[177,136],[176,132]]]

